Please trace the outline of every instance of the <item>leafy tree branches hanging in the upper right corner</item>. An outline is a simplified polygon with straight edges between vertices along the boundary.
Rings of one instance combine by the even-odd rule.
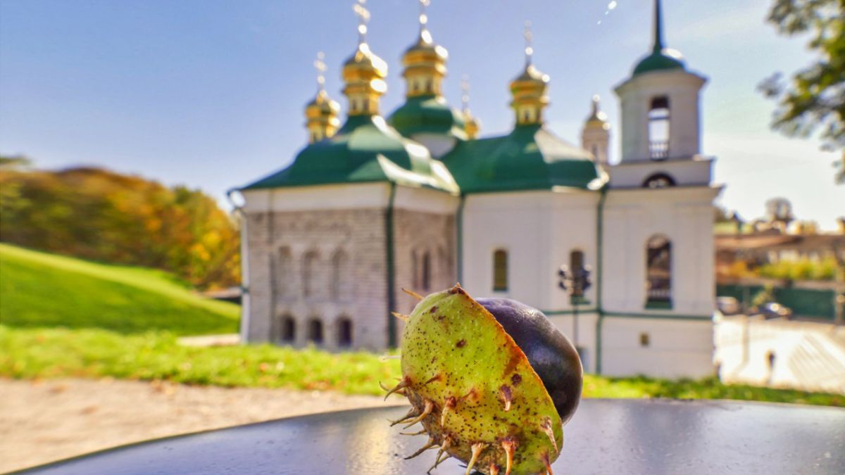
[[[802,137],[820,128],[822,148],[842,150],[836,180],[845,183],[845,0],[774,0],[768,21],[783,35],[810,33],[818,55],[789,84],[780,73],[760,84],[778,101],[772,128]]]

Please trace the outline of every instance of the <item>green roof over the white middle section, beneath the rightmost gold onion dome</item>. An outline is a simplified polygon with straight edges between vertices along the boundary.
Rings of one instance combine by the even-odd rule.
[[[461,142],[443,162],[463,193],[597,189],[607,181],[589,152],[541,125],[521,125],[500,137]]]

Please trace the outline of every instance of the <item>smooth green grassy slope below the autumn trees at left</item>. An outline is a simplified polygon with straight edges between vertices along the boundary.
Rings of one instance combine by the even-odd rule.
[[[131,334],[233,333],[238,307],[202,298],[176,278],[0,244],[0,324]]]

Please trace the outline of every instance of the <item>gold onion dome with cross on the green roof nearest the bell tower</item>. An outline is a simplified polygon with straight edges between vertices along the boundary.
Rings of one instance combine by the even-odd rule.
[[[522,74],[510,82],[510,94],[513,96],[510,106],[516,112],[517,124],[542,123],[542,109],[548,106],[548,74],[543,74],[534,66],[531,45],[531,23],[526,21],[526,66]]]

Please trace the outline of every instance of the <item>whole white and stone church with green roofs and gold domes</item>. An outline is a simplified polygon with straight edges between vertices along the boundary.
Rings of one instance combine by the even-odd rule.
[[[423,2],[423,5],[428,2]],[[621,157],[593,98],[581,145],[544,124],[549,77],[532,59],[510,82],[514,125],[479,134],[444,99],[448,52],[420,16],[401,58],[405,103],[383,115],[387,63],[366,41],[342,67],[346,117],[322,87],[305,107],[308,145],[243,195],[243,318],[248,342],[331,351],[397,347],[416,300],[456,281],[470,295],[541,309],[586,372],[714,374],[712,159],[701,156],[706,78],[653,47],[615,88]],[[526,38],[529,36],[526,35]],[[503,85],[504,86],[504,85]],[[591,269],[581,297],[558,270]]]

